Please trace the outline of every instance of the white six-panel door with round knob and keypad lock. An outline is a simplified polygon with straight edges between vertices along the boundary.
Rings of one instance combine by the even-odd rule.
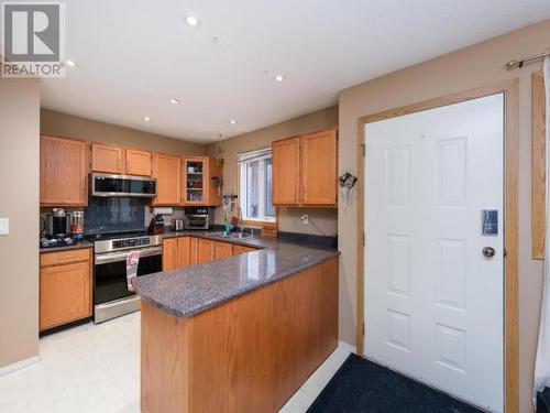
[[[504,96],[364,132],[365,355],[502,412]],[[483,235],[483,210],[497,210],[497,235]]]

